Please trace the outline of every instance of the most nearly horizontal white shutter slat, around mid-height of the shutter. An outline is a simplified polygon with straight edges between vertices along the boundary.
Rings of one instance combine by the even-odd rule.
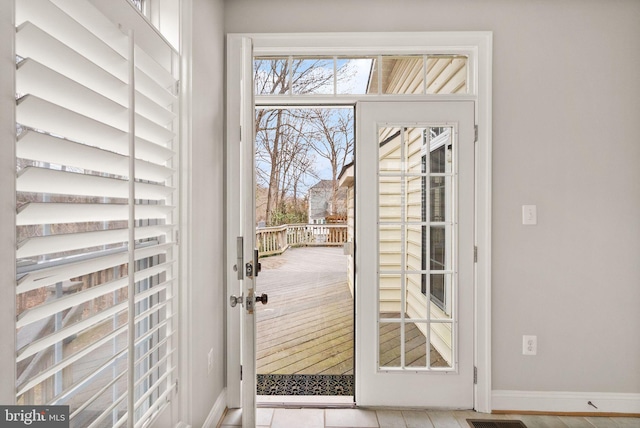
[[[136,205],[136,220],[166,219],[173,210],[169,205]],[[30,202],[16,216],[18,226],[127,220],[125,204],[73,204]]]

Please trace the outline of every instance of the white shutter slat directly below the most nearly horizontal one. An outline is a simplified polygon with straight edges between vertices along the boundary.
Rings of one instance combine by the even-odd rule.
[[[136,227],[136,239],[149,239],[166,235],[173,226]],[[16,256],[19,259],[41,256],[44,254],[62,253],[82,248],[99,247],[125,243],[129,237],[128,229],[100,230],[96,232],[65,233],[60,235],[34,236],[18,245]]]

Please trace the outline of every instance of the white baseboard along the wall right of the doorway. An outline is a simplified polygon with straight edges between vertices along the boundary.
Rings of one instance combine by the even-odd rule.
[[[591,402],[597,408],[589,405]],[[504,391],[491,392],[495,411],[640,414],[640,394],[611,392]]]

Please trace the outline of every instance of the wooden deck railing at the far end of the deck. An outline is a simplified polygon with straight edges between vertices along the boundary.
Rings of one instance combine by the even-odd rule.
[[[345,242],[346,224],[284,224],[256,228],[260,257],[282,254],[289,247],[332,247],[342,246]]]

